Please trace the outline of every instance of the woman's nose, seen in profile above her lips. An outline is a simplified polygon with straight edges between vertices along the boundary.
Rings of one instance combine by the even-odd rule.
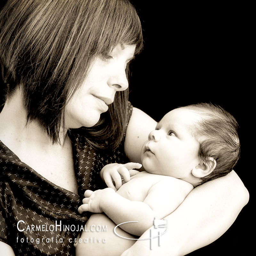
[[[113,86],[116,91],[124,91],[128,88],[128,80],[125,70],[113,70],[108,79],[108,85]]]

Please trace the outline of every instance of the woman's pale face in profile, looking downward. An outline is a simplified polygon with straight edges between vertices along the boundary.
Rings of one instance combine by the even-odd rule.
[[[97,57],[84,84],[65,109],[65,128],[92,127],[108,110],[116,91],[128,88],[127,63],[134,57],[135,45],[118,45],[106,59]]]

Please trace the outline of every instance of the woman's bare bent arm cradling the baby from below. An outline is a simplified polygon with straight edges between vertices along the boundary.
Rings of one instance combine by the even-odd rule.
[[[155,238],[154,250],[149,250],[148,240],[138,240],[123,255],[132,255],[134,250],[142,250],[140,255],[180,256],[193,252],[225,233],[248,200],[249,193],[234,171],[209,181],[193,189],[166,217],[168,231],[161,237],[162,246]],[[141,238],[148,235],[147,230]]]

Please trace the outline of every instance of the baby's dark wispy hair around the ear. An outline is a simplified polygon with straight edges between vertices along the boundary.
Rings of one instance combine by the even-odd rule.
[[[182,108],[190,109],[202,118],[196,122],[194,134],[200,142],[200,160],[209,164],[209,157],[213,157],[217,163],[211,174],[201,178],[201,183],[227,175],[240,157],[237,132],[239,126],[234,116],[211,103],[192,104]]]

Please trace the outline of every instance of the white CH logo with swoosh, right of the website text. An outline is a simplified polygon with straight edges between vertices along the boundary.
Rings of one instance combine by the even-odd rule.
[[[118,224],[115,228],[114,228],[114,232],[117,236],[120,236],[116,233],[116,228],[124,223],[129,223],[129,222],[138,222],[138,221],[126,221],[126,222],[123,222],[123,223],[120,223]],[[150,237],[148,238],[127,238],[127,237],[124,237],[124,236],[120,236],[124,239],[131,239],[131,240],[147,240],[147,239],[150,239],[150,249],[152,250],[152,244],[153,244],[153,238],[156,238],[156,237],[159,237],[159,246],[161,246],[161,236],[164,235],[167,230],[168,230],[168,226],[167,226],[167,220],[166,219],[163,219],[163,220],[159,220],[158,217],[155,217],[155,220],[154,220],[154,225],[155,225],[155,228],[161,228],[161,227],[166,227],[166,230],[161,233],[161,231],[158,232],[158,236],[153,236],[153,228],[150,229]]]

